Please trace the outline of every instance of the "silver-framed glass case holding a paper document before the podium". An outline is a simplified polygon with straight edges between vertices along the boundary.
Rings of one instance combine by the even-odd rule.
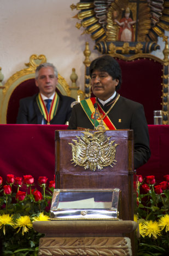
[[[54,190],[50,220],[118,220],[119,188],[113,190]]]

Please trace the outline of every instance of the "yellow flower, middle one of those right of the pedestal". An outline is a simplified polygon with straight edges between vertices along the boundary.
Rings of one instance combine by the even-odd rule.
[[[153,236],[157,238],[157,236],[161,235],[161,230],[157,221],[147,220],[144,222],[145,236]]]

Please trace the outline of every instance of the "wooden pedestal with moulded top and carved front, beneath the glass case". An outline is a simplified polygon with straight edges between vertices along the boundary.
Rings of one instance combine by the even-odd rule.
[[[35,221],[33,228],[45,233],[38,255],[132,255],[125,234],[136,230],[135,221],[63,220]]]

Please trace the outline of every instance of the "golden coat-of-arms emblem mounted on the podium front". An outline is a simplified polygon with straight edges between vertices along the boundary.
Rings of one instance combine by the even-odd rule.
[[[85,130],[84,135],[77,136],[77,140],[69,143],[72,146],[72,157],[75,165],[83,166],[85,169],[95,171],[102,170],[103,167],[115,164],[116,146],[115,141],[110,141],[111,137],[104,135],[106,131],[96,131],[94,133]]]

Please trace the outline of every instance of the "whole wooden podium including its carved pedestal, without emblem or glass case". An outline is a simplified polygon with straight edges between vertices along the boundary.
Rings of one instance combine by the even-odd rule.
[[[134,182],[136,175],[133,170],[133,131],[103,131],[108,144],[116,144],[114,160],[111,165],[95,171],[90,168],[85,169],[84,166],[72,161],[72,145],[78,143],[84,132],[84,130],[55,131],[57,189],[119,188],[121,220],[35,221],[34,229],[45,233],[45,237],[40,238],[39,241],[38,255],[136,255],[134,231],[137,223],[133,221],[136,205],[136,186],[133,186],[134,183],[136,185]],[[95,132],[98,131],[90,130],[89,134],[93,135]],[[88,135],[85,136],[88,140]],[[90,149],[88,146],[88,151]],[[98,153],[99,148],[95,149]],[[97,158],[95,152],[92,153],[92,156]],[[85,153],[79,155],[84,157]],[[86,162],[88,162],[87,158]]]

